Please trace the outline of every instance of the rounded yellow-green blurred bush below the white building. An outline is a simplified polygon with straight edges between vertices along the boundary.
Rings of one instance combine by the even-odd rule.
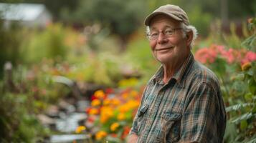
[[[67,46],[65,46],[65,29],[61,24],[47,26],[44,31],[37,31],[22,45],[21,55],[26,63],[35,63],[44,58],[55,60],[65,59]]]

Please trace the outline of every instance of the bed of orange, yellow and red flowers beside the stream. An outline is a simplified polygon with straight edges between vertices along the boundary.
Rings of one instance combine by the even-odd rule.
[[[95,142],[124,142],[140,104],[142,90],[106,89],[93,94],[85,127],[77,133],[91,134]]]

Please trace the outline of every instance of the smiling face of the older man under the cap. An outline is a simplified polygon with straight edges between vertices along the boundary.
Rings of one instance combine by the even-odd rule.
[[[169,16],[159,15],[151,20],[150,33],[159,33],[157,39],[150,40],[153,56],[161,64],[178,64],[184,61],[189,54],[189,42],[184,36],[179,21],[171,19]],[[176,30],[174,30],[176,29]],[[174,32],[171,36],[165,36],[169,31]]]

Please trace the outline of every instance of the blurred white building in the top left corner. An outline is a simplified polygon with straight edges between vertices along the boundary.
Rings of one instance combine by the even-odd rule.
[[[27,27],[45,27],[52,21],[52,16],[43,4],[4,4],[0,3],[0,19],[9,27],[11,21]]]

